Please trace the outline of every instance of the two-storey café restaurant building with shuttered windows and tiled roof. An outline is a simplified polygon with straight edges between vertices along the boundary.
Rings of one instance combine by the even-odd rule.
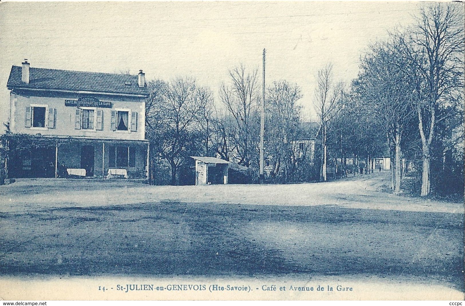
[[[7,177],[148,179],[145,75],[13,66]]]

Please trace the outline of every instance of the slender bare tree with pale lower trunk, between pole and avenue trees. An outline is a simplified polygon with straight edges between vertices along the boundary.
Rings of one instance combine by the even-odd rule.
[[[328,126],[335,113],[339,110],[338,104],[341,99],[343,84],[334,83],[332,72],[332,64],[327,64],[324,68],[318,71],[316,76],[317,88],[315,89],[315,108],[319,116],[320,128],[317,133],[321,135],[321,168],[320,180],[326,181],[326,165],[327,165],[327,133]]]

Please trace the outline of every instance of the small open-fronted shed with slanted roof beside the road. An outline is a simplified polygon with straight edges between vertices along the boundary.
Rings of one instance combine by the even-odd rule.
[[[195,160],[195,185],[227,184],[229,161],[208,156],[191,156]]]

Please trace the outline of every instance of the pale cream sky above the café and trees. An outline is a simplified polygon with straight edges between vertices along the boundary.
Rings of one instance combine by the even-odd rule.
[[[360,56],[395,27],[412,24],[418,2],[2,2],[0,120],[8,120],[11,66],[114,73],[147,80],[193,77],[218,90],[228,70],[259,69],[266,84],[300,86],[314,120],[315,75],[333,64],[336,81],[357,77]]]

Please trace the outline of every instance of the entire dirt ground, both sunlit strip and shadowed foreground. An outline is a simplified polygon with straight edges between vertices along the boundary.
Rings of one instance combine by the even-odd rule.
[[[463,205],[378,192],[382,176],[280,186],[67,182],[1,186],[1,274],[371,275],[464,291]]]

